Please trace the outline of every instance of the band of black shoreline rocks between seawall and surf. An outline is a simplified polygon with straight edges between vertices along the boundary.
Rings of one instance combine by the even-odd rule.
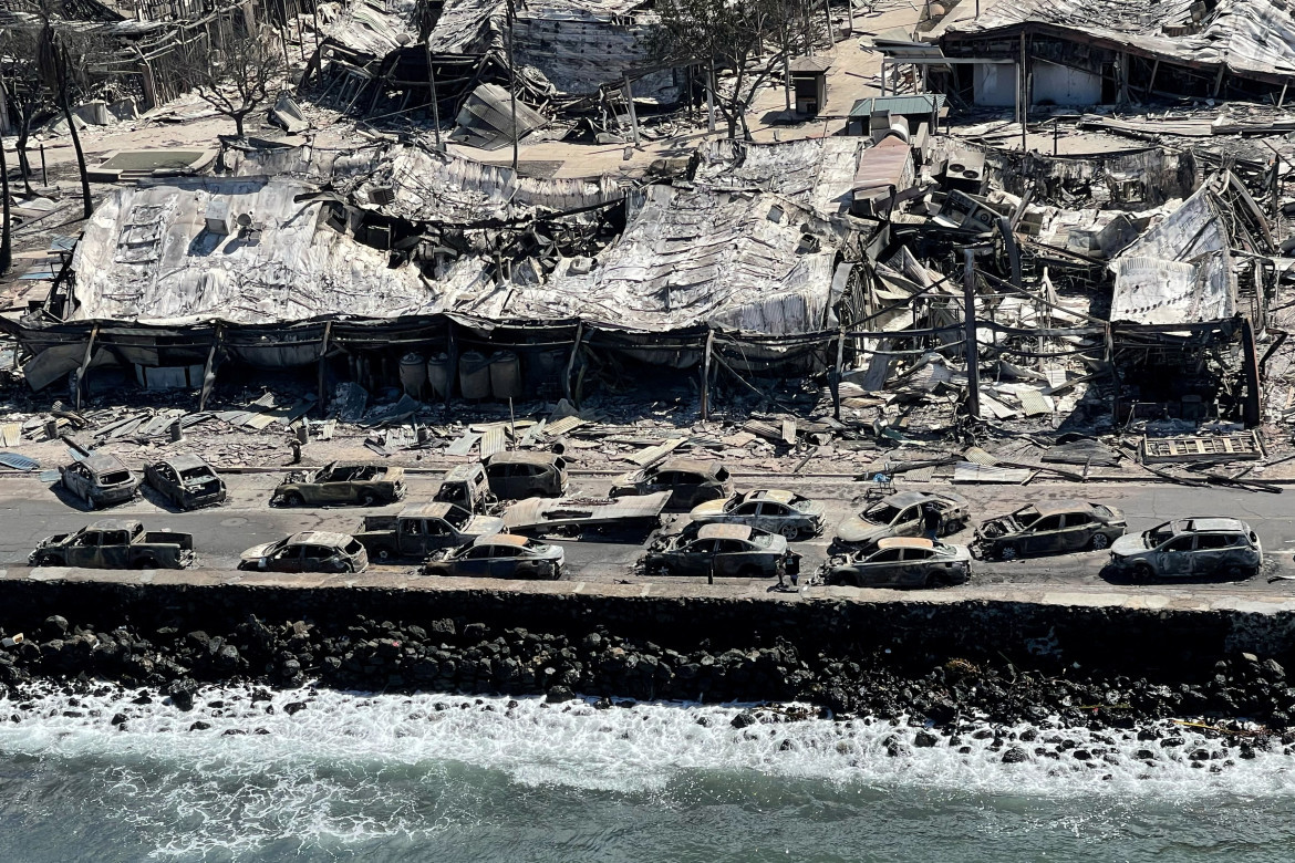
[[[128,624],[93,629],[54,615],[21,637],[0,630],[0,683],[10,704],[32,686],[54,682],[67,692],[104,683],[140,687],[181,710],[207,684],[540,695],[553,704],[580,694],[597,699],[598,708],[627,699],[764,703],[771,706],[738,713],[733,726],[812,716],[891,721],[916,732],[897,735],[890,754],[909,745],[956,747],[960,735],[975,734],[993,736],[991,747],[1001,748],[1009,762],[1048,753],[1081,761],[1102,756],[1074,741],[1054,741],[1049,749],[1037,731],[1006,731],[1022,725],[1109,730],[1125,739],[1136,732],[1151,756],[1153,745],[1182,745],[1169,719],[1198,719],[1195,731],[1232,737],[1241,757],[1256,747],[1291,753],[1295,744],[1295,734],[1287,732],[1295,687],[1276,659],[1248,652],[1197,662],[1172,678],[1149,678],[1059,659],[1009,659],[1000,651],[948,656],[843,646],[825,652],[759,633],[743,643],[701,640],[692,650],[673,650],[601,626],[581,634],[536,633],[449,617],[423,626],[363,616],[344,624],[271,625],[249,615],[224,631],[181,631]],[[772,706],[791,701],[812,709]]]

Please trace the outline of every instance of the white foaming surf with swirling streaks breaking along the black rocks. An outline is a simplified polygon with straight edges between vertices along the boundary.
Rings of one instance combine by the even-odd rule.
[[[254,700],[253,690],[208,688],[180,712],[137,703],[146,700],[140,695],[38,687],[27,700],[0,703],[0,827],[28,807],[48,809],[53,787],[62,801],[56,811],[110,813],[119,838],[152,858],[271,859],[303,850],[328,858],[363,847],[372,859],[382,859],[374,849],[398,859],[395,849],[497,840],[515,818],[571,824],[578,836],[575,813],[591,801],[611,810],[721,801],[778,811],[813,798],[815,818],[830,820],[824,806],[852,811],[895,793],[1041,798],[1072,810],[1049,829],[1089,838],[1112,829],[1112,807],[1140,798],[1178,809],[1244,800],[1285,810],[1295,801],[1295,758],[1279,744],[1242,758],[1190,727],[1173,730],[1182,743],[1172,747],[1133,732],[1059,727],[997,748],[984,731],[923,747],[921,728],[888,722],[782,718],[733,727],[742,706],[596,709],[311,690]],[[1004,763],[1013,745],[1027,759]],[[1039,747],[1063,752],[1039,756]],[[1150,765],[1140,750],[1151,750]],[[71,794],[74,787],[82,793]],[[698,849],[697,859],[706,858]]]

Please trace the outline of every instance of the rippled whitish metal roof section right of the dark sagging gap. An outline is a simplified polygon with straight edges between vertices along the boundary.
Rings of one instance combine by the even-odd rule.
[[[504,283],[458,311],[671,330],[783,335],[835,325],[844,235],[776,194],[653,185],[631,198],[624,234],[597,261],[569,259],[544,285]]]

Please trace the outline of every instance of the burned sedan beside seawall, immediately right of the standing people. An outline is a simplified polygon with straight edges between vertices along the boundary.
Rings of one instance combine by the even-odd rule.
[[[824,582],[853,587],[949,587],[970,577],[966,546],[921,537],[883,537],[875,551],[837,555],[822,572]]]

